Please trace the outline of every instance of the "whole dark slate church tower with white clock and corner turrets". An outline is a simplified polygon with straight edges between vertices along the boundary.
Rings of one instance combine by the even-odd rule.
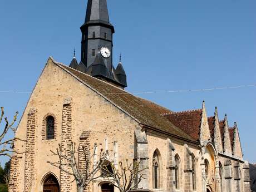
[[[115,69],[112,62],[115,29],[109,21],[106,0],[88,0],[85,23],[80,29],[81,62],[74,65],[73,58],[70,67],[118,87],[127,87],[124,68],[119,63]]]

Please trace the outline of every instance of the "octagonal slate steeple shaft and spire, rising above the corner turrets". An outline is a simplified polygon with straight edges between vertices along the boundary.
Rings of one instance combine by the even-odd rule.
[[[109,22],[106,0],[88,0],[85,23],[81,26],[81,32],[81,61],[83,64],[86,67],[92,65],[97,51],[106,47],[109,50],[109,55],[105,57],[105,60],[107,69],[111,71],[114,27]]]

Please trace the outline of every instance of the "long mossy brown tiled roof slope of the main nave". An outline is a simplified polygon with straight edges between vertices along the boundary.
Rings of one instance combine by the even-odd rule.
[[[173,125],[170,121],[163,117],[163,115],[161,115],[171,112],[165,107],[161,107],[151,101],[131,95],[130,93],[121,90],[110,83],[106,83],[105,81],[101,81],[90,75],[74,70],[73,68],[62,65],[61,63],[57,63],[55,61],[53,62],[63,68],[63,70],[70,72],[72,76],[79,78],[87,86],[92,87],[93,90],[99,92],[114,105],[120,107],[132,117],[135,117],[140,124],[152,127],[156,130],[167,132],[173,136],[178,136],[186,140],[196,141],[194,137],[186,134],[186,132]]]

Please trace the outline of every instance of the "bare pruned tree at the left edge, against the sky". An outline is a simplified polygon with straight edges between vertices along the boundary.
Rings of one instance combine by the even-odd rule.
[[[4,116],[4,109],[3,107],[1,107],[0,125],[3,120],[3,116]],[[17,128],[14,128],[13,125],[17,120],[17,116],[18,116],[18,112],[16,112],[16,114],[14,115],[11,124],[9,124],[7,117],[4,118],[4,121],[5,121],[4,129],[0,133],[0,156],[12,157],[11,156],[12,152],[16,154],[21,154],[17,151],[14,151],[11,146],[13,145],[13,142],[16,140],[21,140],[21,141],[25,141],[25,140],[19,139],[17,137],[14,137],[12,139],[5,139],[9,130],[11,130],[14,134],[16,133]]]

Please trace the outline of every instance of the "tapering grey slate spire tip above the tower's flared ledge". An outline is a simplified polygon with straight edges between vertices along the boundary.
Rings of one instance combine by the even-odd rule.
[[[93,20],[109,23],[106,0],[88,0],[85,23]]]

